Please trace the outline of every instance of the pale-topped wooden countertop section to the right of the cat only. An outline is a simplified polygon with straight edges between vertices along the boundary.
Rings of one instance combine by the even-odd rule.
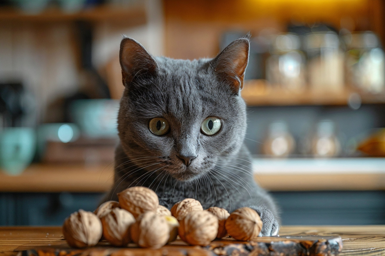
[[[272,191],[385,190],[385,158],[254,159],[254,178]]]

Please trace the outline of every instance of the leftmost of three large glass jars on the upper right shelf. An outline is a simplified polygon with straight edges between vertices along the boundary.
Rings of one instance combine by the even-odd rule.
[[[278,35],[266,61],[266,79],[274,86],[298,91],[305,88],[305,55],[295,34]]]

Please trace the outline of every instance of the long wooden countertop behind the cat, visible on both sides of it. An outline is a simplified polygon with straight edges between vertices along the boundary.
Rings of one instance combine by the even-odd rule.
[[[0,172],[0,192],[106,192],[113,170],[112,165],[33,164],[19,176]],[[385,158],[258,159],[254,178],[271,191],[385,190]]]

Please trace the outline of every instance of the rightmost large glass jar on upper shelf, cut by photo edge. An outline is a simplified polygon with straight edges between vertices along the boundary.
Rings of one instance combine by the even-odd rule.
[[[346,80],[363,91],[378,93],[385,87],[385,56],[380,40],[372,31],[344,36]]]

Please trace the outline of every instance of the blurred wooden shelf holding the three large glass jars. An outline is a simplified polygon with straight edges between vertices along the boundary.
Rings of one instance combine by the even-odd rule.
[[[348,86],[346,86],[348,88]],[[361,101],[361,104],[384,104],[385,93],[370,94],[345,89],[341,92],[315,92],[306,89],[300,92],[268,86],[264,80],[248,80],[241,91],[248,106],[304,106],[304,105],[348,105]],[[354,103],[354,102],[353,102]]]

